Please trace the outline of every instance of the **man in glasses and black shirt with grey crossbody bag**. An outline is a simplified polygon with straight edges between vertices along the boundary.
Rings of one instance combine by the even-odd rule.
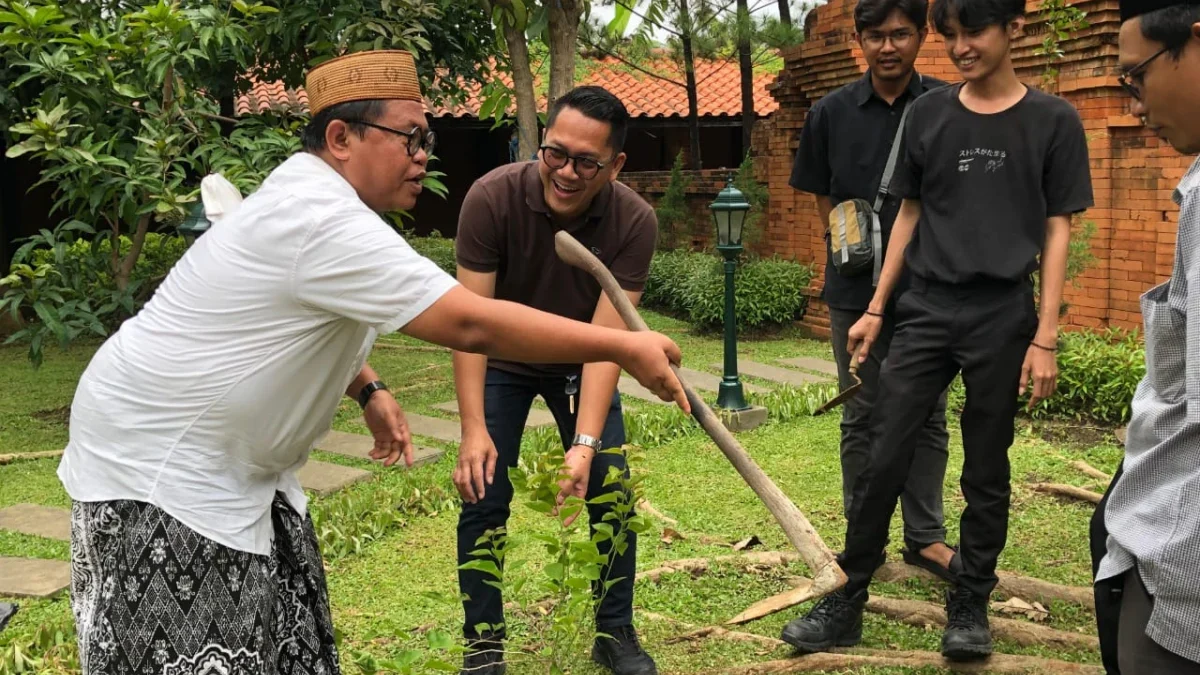
[[[854,32],[868,72],[860,79],[822,97],[809,112],[800,132],[800,147],[792,167],[792,187],[816,196],[826,229],[826,279],[821,297],[829,307],[830,342],[838,363],[838,380],[850,388],[851,354],[846,351],[850,327],[871,303],[875,274],[866,269],[847,274],[834,265],[829,237],[829,213],[847,199],[876,201],[880,185],[900,130],[905,108],[924,92],[946,83],[916,72],[913,65],[925,41],[926,0],[859,0],[854,7]],[[887,251],[892,223],[900,199],[889,197],[880,209],[882,246]],[[901,286],[904,282],[901,281]],[[841,408],[841,486],[846,518],[853,509],[854,482],[871,456],[870,420],[878,393],[880,365],[888,353],[895,325],[892,303],[878,339],[859,368],[863,387]],[[938,399],[917,441],[913,471],[905,484],[905,561],[948,580],[958,568],[954,550],[946,545],[942,516],[942,483],[949,435],[946,431],[946,396]]]

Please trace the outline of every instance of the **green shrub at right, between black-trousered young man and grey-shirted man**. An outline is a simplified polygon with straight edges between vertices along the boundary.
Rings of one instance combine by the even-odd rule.
[[[1033,408],[1033,417],[1123,424],[1145,374],[1146,352],[1136,331],[1066,333],[1060,340],[1058,388]]]

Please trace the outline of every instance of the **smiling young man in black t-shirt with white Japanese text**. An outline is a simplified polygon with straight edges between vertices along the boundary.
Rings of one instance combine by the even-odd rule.
[[[934,24],[965,83],[913,103],[895,192],[904,197],[878,288],[850,330],[864,359],[901,269],[911,287],[880,374],[870,466],[854,485],[845,587],[784,629],[803,651],[862,639],[866,589],[920,428],[959,372],[962,412],[962,569],[947,595],[942,655],[991,653],[988,601],[1008,537],[1009,464],[1020,394],[1051,395],[1070,217],[1092,205],[1087,139],[1066,101],[1021,84],[1010,47],[1024,0],[935,0]],[[1039,270],[1040,265],[1040,270]],[[1040,274],[1040,312],[1032,274]]]

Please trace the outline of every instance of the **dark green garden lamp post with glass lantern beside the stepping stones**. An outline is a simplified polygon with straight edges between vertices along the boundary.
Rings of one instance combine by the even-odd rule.
[[[737,322],[733,313],[733,271],[742,253],[742,226],[745,223],[750,203],[740,190],[733,187],[730,175],[725,190],[709,205],[716,222],[716,250],[725,256],[725,377],[716,394],[716,406],[730,411],[742,411],[746,405],[738,380]]]

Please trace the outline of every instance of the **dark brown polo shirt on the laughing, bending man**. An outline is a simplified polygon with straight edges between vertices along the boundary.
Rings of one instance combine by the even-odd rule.
[[[494,271],[496,298],[500,300],[590,323],[600,283],[558,258],[554,233],[570,232],[604,262],[622,288],[640,292],[649,276],[658,217],[637,192],[610,183],[575,222],[558,223],[546,207],[539,161],[505,165],[475,181],[458,214],[456,257],[472,271]],[[559,376],[581,370],[580,364],[498,359],[488,364],[521,375]]]

